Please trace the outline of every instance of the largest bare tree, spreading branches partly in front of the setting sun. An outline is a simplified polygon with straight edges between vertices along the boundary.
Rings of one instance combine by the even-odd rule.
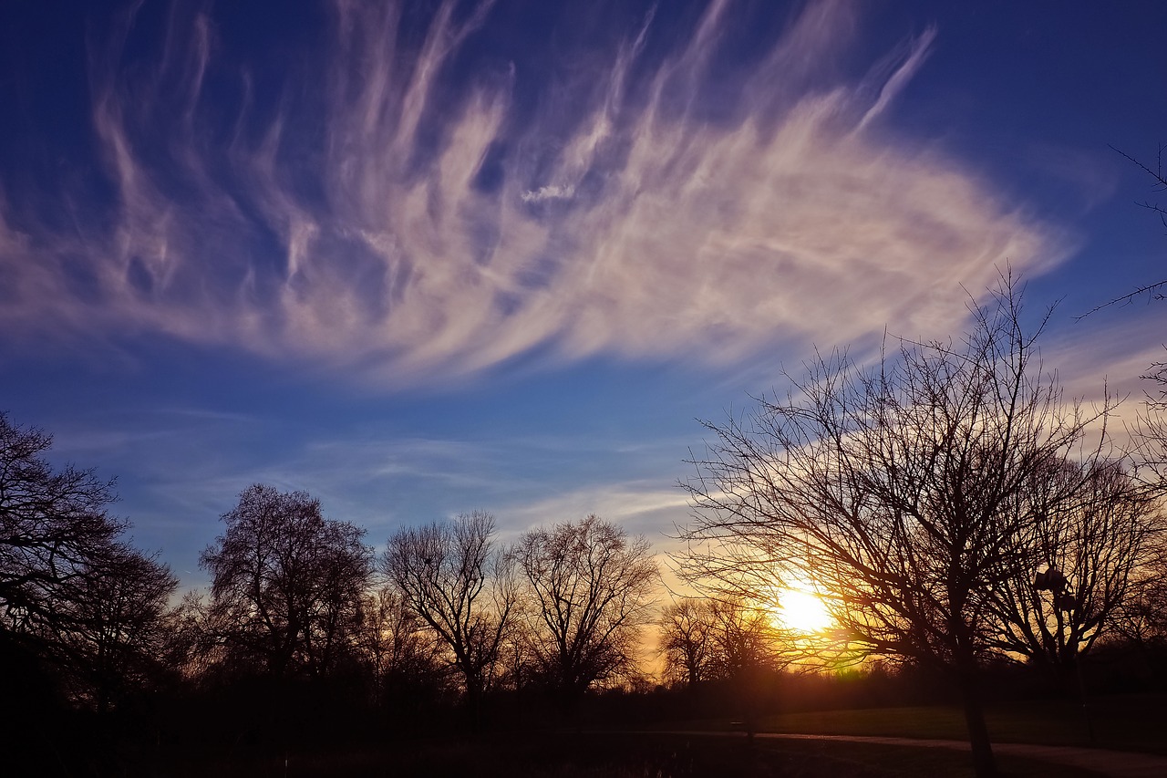
[[[687,484],[694,579],[759,598],[805,579],[851,648],[941,668],[962,693],[978,776],[994,773],[978,666],[987,600],[1029,571],[1011,540],[1037,520],[1021,495],[1105,417],[1063,402],[1005,279],[963,342],[901,341],[872,370],[818,357],[783,400],[717,436]],[[788,376],[789,377],[789,376]],[[1049,505],[1082,485],[1050,485]]]

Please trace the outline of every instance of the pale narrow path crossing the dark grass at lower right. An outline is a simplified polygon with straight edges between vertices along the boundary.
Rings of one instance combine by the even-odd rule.
[[[694,732],[696,734],[696,732]],[[860,737],[851,735],[781,735],[777,732],[757,732],[755,737],[806,739],[806,741],[850,741],[853,743],[881,743],[886,745],[917,745],[924,748],[959,749],[967,751],[965,741],[932,741],[910,737]],[[1105,749],[1083,749],[1069,745],[1028,745],[1023,743],[993,743],[993,753],[1064,764],[1084,770],[1093,770],[1113,778],[1165,778],[1167,777],[1167,756],[1154,753],[1133,753],[1131,751],[1107,751]]]

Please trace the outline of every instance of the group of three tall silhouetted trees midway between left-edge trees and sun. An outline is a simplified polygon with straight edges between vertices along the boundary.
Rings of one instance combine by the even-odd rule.
[[[637,672],[657,568],[648,541],[596,516],[495,540],[481,512],[401,529],[384,553],[303,492],[253,486],[176,612],[193,681],[361,676],[370,702],[413,707],[538,687],[569,707]]]

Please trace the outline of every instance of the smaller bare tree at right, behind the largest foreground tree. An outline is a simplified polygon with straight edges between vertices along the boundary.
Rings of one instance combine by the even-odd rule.
[[[1069,499],[1057,499],[1067,493]],[[988,641],[1069,687],[1079,657],[1116,628],[1120,610],[1135,596],[1163,521],[1113,461],[1062,463],[1022,499],[1035,521],[1012,543],[1019,562],[1028,560],[1028,575],[1002,578],[986,600],[999,620]]]

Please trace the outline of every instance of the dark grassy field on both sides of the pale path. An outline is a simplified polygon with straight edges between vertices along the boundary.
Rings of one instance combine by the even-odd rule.
[[[1161,696],[1099,699],[1091,703],[1091,742],[1085,718],[1072,703],[1019,703],[990,710],[999,743],[1095,745],[1167,753],[1167,717]],[[478,778],[924,778],[971,777],[969,756],[948,749],[873,743],[757,738],[731,734],[728,721],[689,722],[672,732],[506,732],[386,742],[375,748],[301,753],[264,748],[221,753],[170,753],[176,774],[292,778],[474,774]],[[881,708],[798,713],[763,720],[760,731],[964,738],[960,711],[949,707]],[[1098,773],[998,755],[1005,776],[1083,778]]]

